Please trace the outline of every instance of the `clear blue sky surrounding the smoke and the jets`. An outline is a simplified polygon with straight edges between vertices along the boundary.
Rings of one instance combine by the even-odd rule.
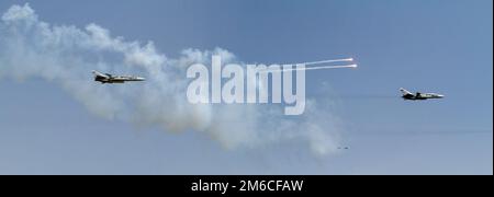
[[[1,12],[14,3],[24,1],[1,1]],[[493,173],[490,0],[30,4],[42,21],[97,23],[130,40],[153,40],[169,57],[215,47],[246,62],[353,57],[357,70],[307,72],[307,97],[336,103],[350,149],[315,158],[292,140],[224,150],[198,132],[93,117],[41,79],[0,79],[0,174]],[[404,102],[401,86],[447,97]]]

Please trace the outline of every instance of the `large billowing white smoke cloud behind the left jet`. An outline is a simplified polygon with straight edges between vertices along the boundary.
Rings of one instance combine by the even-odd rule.
[[[307,101],[305,114],[297,118],[271,105],[189,104],[184,70],[192,63],[211,65],[212,55],[224,63],[238,62],[221,48],[187,49],[179,58],[168,58],[151,42],[112,37],[96,24],[80,30],[42,22],[29,4],[12,5],[0,22],[0,78],[50,81],[99,117],[167,131],[197,130],[229,149],[302,140],[316,155],[337,151],[337,118],[315,101]],[[91,70],[133,73],[147,81],[101,85],[92,81]]]

